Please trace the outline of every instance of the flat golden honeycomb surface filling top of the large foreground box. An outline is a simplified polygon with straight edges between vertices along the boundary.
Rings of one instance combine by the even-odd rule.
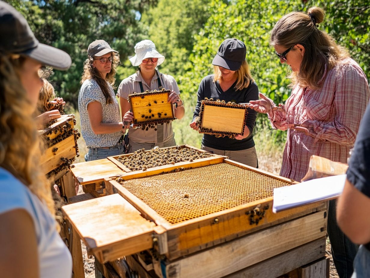
[[[228,163],[117,181],[172,224],[269,198],[274,188],[290,185]]]

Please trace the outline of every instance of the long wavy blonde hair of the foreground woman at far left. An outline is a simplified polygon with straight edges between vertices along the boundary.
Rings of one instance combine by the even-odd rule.
[[[0,167],[26,185],[55,215],[50,183],[40,171],[41,140],[36,124],[30,120],[34,107],[20,86],[18,70],[26,59],[0,55]]]

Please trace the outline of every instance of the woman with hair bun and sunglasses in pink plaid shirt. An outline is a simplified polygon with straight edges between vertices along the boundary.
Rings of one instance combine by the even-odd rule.
[[[305,176],[311,155],[347,162],[369,102],[366,75],[345,48],[317,28],[323,19],[323,10],[313,7],[276,23],[270,43],[292,70],[293,90],[285,105],[262,94],[249,105],[267,113],[274,128],[288,130],[280,175],[296,181]],[[350,277],[357,247],[337,226],[335,207],[331,200],[327,232],[339,277]]]

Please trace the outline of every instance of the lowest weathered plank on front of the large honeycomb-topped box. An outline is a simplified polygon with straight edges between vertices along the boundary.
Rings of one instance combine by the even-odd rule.
[[[326,237],[313,240],[224,278],[275,278],[325,255]],[[323,277],[323,276],[322,276]],[[329,278],[329,277],[328,277]]]

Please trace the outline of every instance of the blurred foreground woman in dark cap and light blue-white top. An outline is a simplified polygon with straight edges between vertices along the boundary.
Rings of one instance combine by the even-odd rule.
[[[3,1],[0,37],[1,277],[71,277],[71,254],[57,232],[33,120],[43,86],[39,69],[66,70],[71,58],[40,44],[24,17]]]

